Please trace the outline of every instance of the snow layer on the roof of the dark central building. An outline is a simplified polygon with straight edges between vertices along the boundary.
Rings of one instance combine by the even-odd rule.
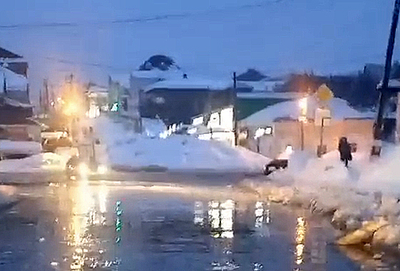
[[[220,91],[232,87],[230,81],[215,81],[210,79],[201,78],[180,78],[174,80],[165,80],[157,83],[153,83],[147,88],[145,92],[151,91],[157,88],[168,88],[168,89],[208,89],[212,91]]]

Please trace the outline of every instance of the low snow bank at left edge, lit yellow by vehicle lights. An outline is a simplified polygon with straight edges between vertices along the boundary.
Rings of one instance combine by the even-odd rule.
[[[1,173],[34,173],[63,170],[66,158],[56,153],[39,153],[23,159],[1,160]]]

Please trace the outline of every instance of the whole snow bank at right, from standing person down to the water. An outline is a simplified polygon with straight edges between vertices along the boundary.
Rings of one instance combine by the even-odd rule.
[[[380,158],[355,153],[349,168],[333,151],[323,158],[293,153],[289,168],[269,180],[245,181],[272,201],[332,215],[344,229],[340,245],[372,242],[400,244],[400,147],[385,146]]]

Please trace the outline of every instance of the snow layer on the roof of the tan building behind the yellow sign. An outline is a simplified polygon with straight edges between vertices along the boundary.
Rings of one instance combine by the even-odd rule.
[[[341,98],[332,98],[328,106],[331,109],[331,116],[335,120],[342,120],[344,118],[374,118],[375,115],[373,112],[357,111]],[[317,108],[317,99],[314,96],[307,98],[307,118],[313,119]],[[276,103],[273,106],[268,106],[262,111],[258,111],[240,121],[240,123],[244,126],[262,126],[273,123],[277,118],[297,120],[299,116],[299,100],[284,101]]]

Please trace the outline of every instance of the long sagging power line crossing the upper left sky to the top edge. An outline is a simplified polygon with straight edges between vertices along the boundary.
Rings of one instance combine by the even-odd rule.
[[[272,4],[279,4],[285,0],[267,0],[260,1],[252,4],[243,4],[240,6],[225,6],[220,9],[208,9],[206,11],[199,12],[183,12],[180,14],[160,14],[155,16],[149,16],[144,18],[128,18],[128,19],[118,19],[111,21],[87,21],[87,22],[49,22],[49,23],[37,23],[37,24],[8,24],[0,25],[0,29],[40,29],[40,28],[70,28],[78,26],[101,26],[101,25],[113,25],[113,24],[135,24],[135,23],[145,23],[151,21],[165,21],[170,19],[185,19],[195,16],[207,16],[212,14],[220,14],[230,11],[245,10],[245,9],[255,9],[262,8],[264,6],[270,6]]]

